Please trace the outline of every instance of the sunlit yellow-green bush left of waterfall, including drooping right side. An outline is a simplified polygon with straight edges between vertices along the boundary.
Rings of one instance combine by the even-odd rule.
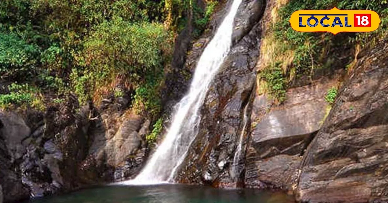
[[[135,24],[121,18],[103,22],[85,39],[83,50],[76,56],[84,68],[83,75],[90,78],[77,79],[76,92],[83,95],[81,89],[86,87],[85,82],[91,82],[87,84],[88,91],[109,88],[108,84],[121,75],[132,87],[137,87],[137,101],[147,111],[159,112],[156,98],[159,82],[154,80],[163,76],[171,42],[171,33],[162,24]]]

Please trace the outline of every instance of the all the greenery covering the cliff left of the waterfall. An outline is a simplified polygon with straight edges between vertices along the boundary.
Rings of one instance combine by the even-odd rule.
[[[175,37],[189,21],[199,36],[217,1],[197,4],[3,0],[0,107],[44,111],[68,94],[96,106],[103,98],[126,97],[155,122]]]

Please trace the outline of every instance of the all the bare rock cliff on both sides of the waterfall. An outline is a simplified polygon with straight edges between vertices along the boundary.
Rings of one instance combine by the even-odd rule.
[[[162,95],[165,114],[184,95],[231,2],[222,2],[195,41],[191,22],[177,37]],[[309,81],[299,78],[279,104],[256,80],[277,3],[242,1],[233,46],[210,85],[175,181],[283,189],[301,202],[388,201],[388,42],[360,54],[350,72],[334,67]],[[337,86],[329,104],[327,91]],[[45,112],[1,110],[0,203],[136,176],[154,146],[145,138],[151,120],[133,111],[128,91],[99,106],[80,106],[69,94]]]

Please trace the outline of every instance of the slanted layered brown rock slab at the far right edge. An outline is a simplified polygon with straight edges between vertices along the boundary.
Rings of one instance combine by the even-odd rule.
[[[359,61],[308,147],[300,201],[388,201],[388,45]]]

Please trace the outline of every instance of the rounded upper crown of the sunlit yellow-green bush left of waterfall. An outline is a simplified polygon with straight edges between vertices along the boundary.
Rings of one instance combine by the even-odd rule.
[[[168,49],[169,34],[161,24],[133,24],[121,18],[103,22],[85,40],[79,64],[97,79],[112,73],[130,73],[139,81],[147,71],[163,68],[162,51]],[[166,45],[166,46],[164,46]]]

